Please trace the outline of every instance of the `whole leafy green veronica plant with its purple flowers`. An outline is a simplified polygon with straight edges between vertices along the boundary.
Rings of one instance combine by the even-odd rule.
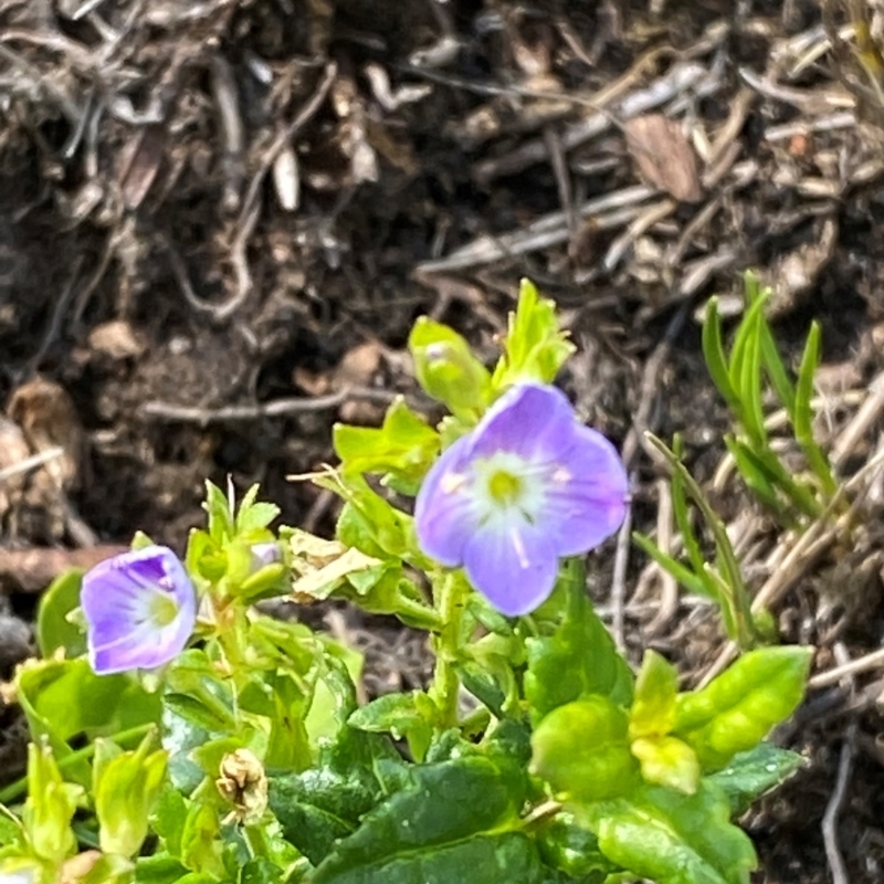
[[[57,581],[43,660],[14,692],[33,745],[0,791],[0,880],[187,884],[746,884],[730,822],[800,764],[761,740],[800,702],[801,648],[747,653],[702,691],[638,674],[587,594],[622,523],[614,446],[552,386],[571,345],[523,284],[493,369],[420,320],[418,379],[338,427],[316,480],[334,539],[209,485],[187,552]],[[357,701],[361,660],[256,603],[346,599],[425,630],[431,683]]]

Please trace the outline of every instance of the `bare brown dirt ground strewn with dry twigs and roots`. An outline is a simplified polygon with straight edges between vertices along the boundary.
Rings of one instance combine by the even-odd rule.
[[[332,459],[336,420],[376,422],[397,392],[431,411],[414,318],[491,357],[522,276],[579,345],[562,383],[623,448],[634,527],[667,526],[643,430],[684,433],[703,482],[720,464],[696,317],[714,293],[738,312],[748,267],[787,354],[822,323],[820,438],[861,471],[884,409],[884,99],[880,56],[825,7],[0,0],[0,676],[54,572],[138,529],[180,548],[206,478],[260,482],[285,523],[330,532],[334,501],[285,477]],[[830,538],[771,594],[819,653],[779,734],[808,768],[744,821],[759,882],[884,875],[880,484],[861,548]],[[766,591],[790,539],[735,488],[713,495],[751,524]],[[615,547],[600,608],[697,683],[714,612]],[[425,676],[410,632],[330,623],[371,693]],[[0,780],[18,722],[0,705]]]

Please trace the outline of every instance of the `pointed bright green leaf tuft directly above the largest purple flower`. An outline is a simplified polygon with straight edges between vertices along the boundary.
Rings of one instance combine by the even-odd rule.
[[[522,281],[518,306],[514,314],[509,314],[504,350],[492,377],[496,392],[524,380],[551,383],[575,350],[559,332],[555,303],[540,297],[528,280]]]

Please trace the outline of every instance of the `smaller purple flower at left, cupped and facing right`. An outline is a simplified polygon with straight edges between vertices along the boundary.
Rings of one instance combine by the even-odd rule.
[[[90,663],[98,675],[150,670],[181,653],[197,620],[197,592],[175,552],[148,546],[106,559],[83,577]]]

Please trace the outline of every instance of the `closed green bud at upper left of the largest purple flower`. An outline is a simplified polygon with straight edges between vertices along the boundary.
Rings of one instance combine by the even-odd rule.
[[[470,345],[445,325],[421,316],[408,339],[418,382],[452,414],[475,420],[487,408],[491,375]]]

